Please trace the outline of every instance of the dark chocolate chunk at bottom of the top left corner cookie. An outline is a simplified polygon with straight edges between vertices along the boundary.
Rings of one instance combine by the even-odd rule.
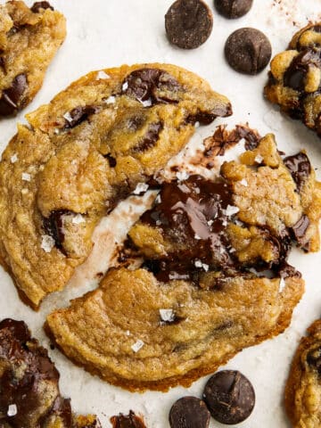
[[[22,97],[27,87],[28,82],[25,74],[19,74],[13,78],[12,86],[4,89],[0,98],[0,115],[11,115],[23,107]]]

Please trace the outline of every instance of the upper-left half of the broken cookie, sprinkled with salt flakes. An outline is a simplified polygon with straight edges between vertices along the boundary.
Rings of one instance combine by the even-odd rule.
[[[89,73],[29,113],[0,163],[0,255],[29,303],[64,287],[98,221],[184,147],[196,121],[230,114],[202,78],[166,64]]]

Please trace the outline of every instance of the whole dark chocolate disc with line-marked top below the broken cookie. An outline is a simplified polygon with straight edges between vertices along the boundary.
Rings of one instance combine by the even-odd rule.
[[[255,393],[250,381],[236,370],[222,370],[210,377],[203,399],[210,414],[222,424],[239,424],[251,415]]]

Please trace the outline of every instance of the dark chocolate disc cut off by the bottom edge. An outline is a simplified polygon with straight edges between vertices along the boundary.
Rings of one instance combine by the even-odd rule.
[[[208,428],[210,412],[202,399],[183,397],[171,407],[169,424],[171,428]]]

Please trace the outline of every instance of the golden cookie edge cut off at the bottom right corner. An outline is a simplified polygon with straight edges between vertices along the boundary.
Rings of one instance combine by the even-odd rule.
[[[309,326],[300,340],[285,386],[284,405],[292,426],[318,428],[321,425],[321,320]]]

